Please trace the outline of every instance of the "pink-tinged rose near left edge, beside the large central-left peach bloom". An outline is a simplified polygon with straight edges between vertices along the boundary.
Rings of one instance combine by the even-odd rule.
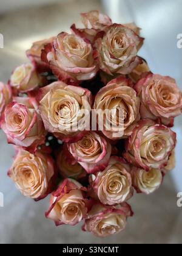
[[[44,124],[33,98],[14,98],[5,108],[1,128],[7,135],[8,143],[30,152],[45,141]]]

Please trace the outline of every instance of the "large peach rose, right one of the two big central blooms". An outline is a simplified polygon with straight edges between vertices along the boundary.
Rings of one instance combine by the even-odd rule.
[[[94,108],[104,118],[101,123],[99,116],[99,129],[111,140],[128,137],[140,120],[140,99],[132,86],[132,80],[118,77],[96,94]]]

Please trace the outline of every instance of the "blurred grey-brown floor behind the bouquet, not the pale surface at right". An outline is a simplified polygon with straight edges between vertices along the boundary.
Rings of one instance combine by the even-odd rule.
[[[31,41],[67,30],[78,20],[78,13],[101,9],[96,0],[67,0],[66,3],[13,12],[0,16],[0,32],[5,48],[0,49],[0,80],[7,80],[16,65],[24,63],[25,49]],[[11,165],[13,149],[0,132],[0,191],[4,193],[4,208],[0,207],[0,243],[182,243],[182,208],[177,207],[177,191],[172,177],[166,177],[163,187],[151,196],[136,195],[130,201],[135,215],[127,229],[119,235],[98,239],[83,233],[80,226],[56,228],[44,218],[49,198],[35,203],[15,189],[6,173]]]

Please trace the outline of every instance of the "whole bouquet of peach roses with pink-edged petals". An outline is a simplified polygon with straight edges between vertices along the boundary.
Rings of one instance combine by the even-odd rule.
[[[175,165],[182,112],[175,80],[153,74],[134,23],[98,11],[84,27],[33,43],[30,63],[0,84],[1,129],[16,156],[8,176],[45,216],[105,237],[133,215],[127,201],[157,190]]]

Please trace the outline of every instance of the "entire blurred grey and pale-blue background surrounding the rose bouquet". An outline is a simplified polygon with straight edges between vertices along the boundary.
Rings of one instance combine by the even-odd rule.
[[[175,77],[182,88],[182,49],[177,48],[177,34],[182,33],[181,0],[103,2],[107,4],[106,10],[113,21],[135,21],[143,28],[146,41],[141,55],[147,59],[154,73]],[[0,33],[4,35],[5,46],[0,49],[0,80],[6,82],[17,65],[27,62],[25,50],[33,41],[67,31],[72,23],[80,24],[80,12],[104,10],[97,0],[51,3],[0,16]],[[13,148],[0,132],[0,191],[4,193],[4,208],[0,207],[0,243],[182,243],[182,208],[177,207],[177,191],[182,185],[181,124],[181,118],[177,118],[178,162],[172,176],[166,176],[163,186],[151,196],[139,194],[133,197],[130,204],[135,216],[129,219],[127,229],[104,240],[83,233],[80,226],[56,228],[52,221],[44,217],[49,197],[35,203],[21,196],[6,174],[12,163]]]

